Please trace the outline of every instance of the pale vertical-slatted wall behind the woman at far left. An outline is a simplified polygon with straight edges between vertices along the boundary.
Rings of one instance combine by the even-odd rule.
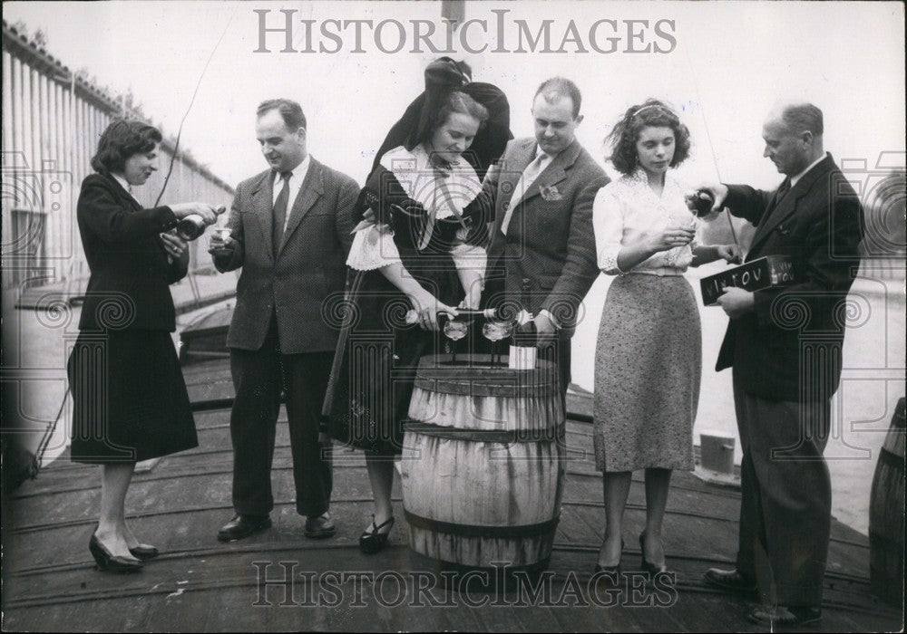
[[[3,208],[5,289],[78,282],[88,275],[75,203],[102,131],[116,117],[141,117],[3,23]],[[137,189],[151,205],[163,187],[174,143],[161,143],[159,171]],[[204,200],[229,207],[233,189],[180,149],[161,200]],[[191,266],[210,265],[203,245]]]

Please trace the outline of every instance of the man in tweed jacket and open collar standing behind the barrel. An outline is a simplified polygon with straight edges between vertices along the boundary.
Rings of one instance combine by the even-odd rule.
[[[494,209],[485,297],[519,300],[522,280],[530,280],[525,308],[535,315],[542,354],[557,363],[562,394],[580,303],[599,274],[592,202],[609,182],[574,136],[580,101],[570,80],[543,82],[532,103],[535,138],[508,143],[483,183]]]

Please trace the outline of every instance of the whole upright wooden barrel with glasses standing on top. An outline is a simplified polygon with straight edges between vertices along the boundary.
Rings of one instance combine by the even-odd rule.
[[[420,361],[400,461],[410,547],[453,567],[541,570],[564,486],[557,372],[472,360],[486,367]]]

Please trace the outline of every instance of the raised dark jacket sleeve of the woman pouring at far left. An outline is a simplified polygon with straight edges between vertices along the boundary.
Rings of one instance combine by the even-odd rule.
[[[138,211],[124,207],[103,177],[97,175],[85,178],[76,213],[83,226],[111,245],[161,234],[176,226],[176,216],[170,207]]]

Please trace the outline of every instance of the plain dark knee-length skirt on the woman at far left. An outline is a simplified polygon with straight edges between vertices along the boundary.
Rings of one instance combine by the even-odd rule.
[[[199,446],[170,332],[82,332],[67,370],[73,462],[137,462]]]

